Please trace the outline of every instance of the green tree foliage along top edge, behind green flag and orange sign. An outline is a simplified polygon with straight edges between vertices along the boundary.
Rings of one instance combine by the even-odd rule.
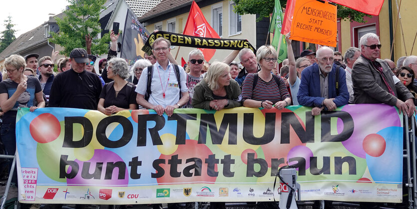
[[[235,12],[238,14],[259,14],[257,21],[269,17],[274,10],[275,0],[234,0]],[[285,8],[287,1],[281,0],[281,7]],[[364,16],[371,16],[349,7],[337,4],[338,17],[350,21],[365,22]]]

